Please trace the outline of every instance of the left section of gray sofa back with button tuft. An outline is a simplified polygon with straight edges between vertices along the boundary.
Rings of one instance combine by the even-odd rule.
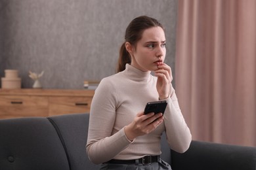
[[[0,169],[70,169],[56,133],[47,118],[0,120]]]

